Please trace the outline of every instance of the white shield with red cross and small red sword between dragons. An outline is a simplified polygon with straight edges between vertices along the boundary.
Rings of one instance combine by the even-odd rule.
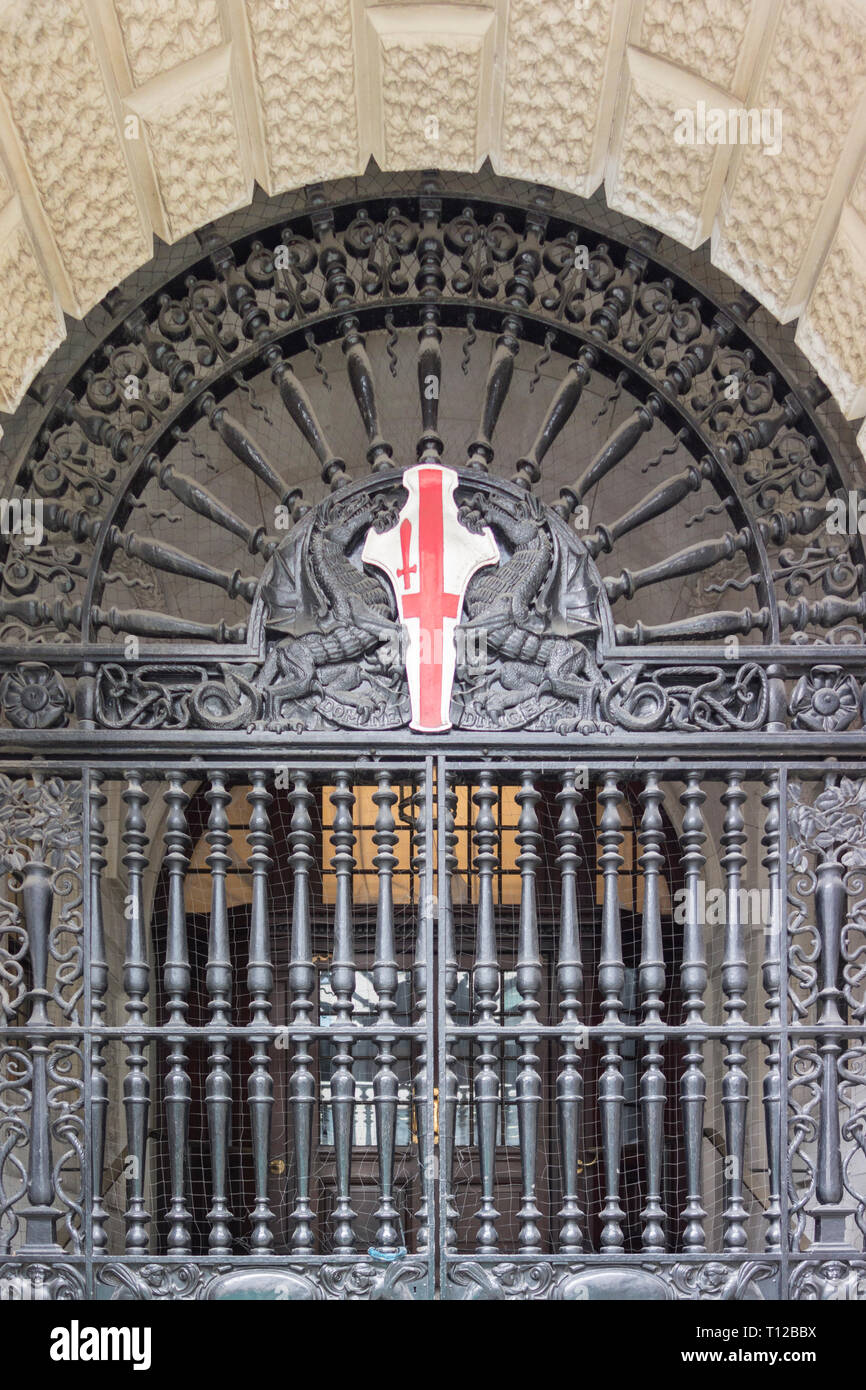
[[[409,498],[389,531],[367,532],[363,559],[391,580],[406,631],[409,727],[424,734],[450,728],[455,632],[473,574],[499,562],[489,527],[470,531],[457,516],[457,474],[421,461],[403,473]]]

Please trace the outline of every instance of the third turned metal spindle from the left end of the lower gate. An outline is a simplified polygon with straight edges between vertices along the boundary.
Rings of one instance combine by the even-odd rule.
[[[183,791],[179,773],[171,774],[163,799],[168,808],[164,833],[165,855],[163,859],[168,872],[168,927],[163,987],[167,999],[165,1037],[170,1044],[168,1072],[165,1076],[165,1130],[171,1179],[171,1205],[165,1212],[165,1220],[170,1223],[167,1250],[170,1254],[175,1254],[192,1247],[192,1216],[186,1205],[185,1193],[192,1087],[188,1070],[189,1058],[183,1048],[185,1040],[182,1031],[186,1026],[190,986],[183,878],[189,865],[192,841],[186,824],[189,796]]]

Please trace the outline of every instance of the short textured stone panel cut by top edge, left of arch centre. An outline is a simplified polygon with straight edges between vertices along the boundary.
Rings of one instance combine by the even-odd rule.
[[[114,0],[136,86],[222,42],[217,0]]]

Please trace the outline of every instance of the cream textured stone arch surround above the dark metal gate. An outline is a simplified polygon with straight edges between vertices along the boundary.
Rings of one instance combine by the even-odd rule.
[[[677,143],[699,101],[780,149]],[[154,235],[370,157],[603,183],[866,411],[866,0],[0,0],[0,410]]]

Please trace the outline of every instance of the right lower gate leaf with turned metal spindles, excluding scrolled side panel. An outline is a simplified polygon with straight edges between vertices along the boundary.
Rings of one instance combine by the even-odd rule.
[[[446,1297],[778,1297],[780,771],[442,777]]]

